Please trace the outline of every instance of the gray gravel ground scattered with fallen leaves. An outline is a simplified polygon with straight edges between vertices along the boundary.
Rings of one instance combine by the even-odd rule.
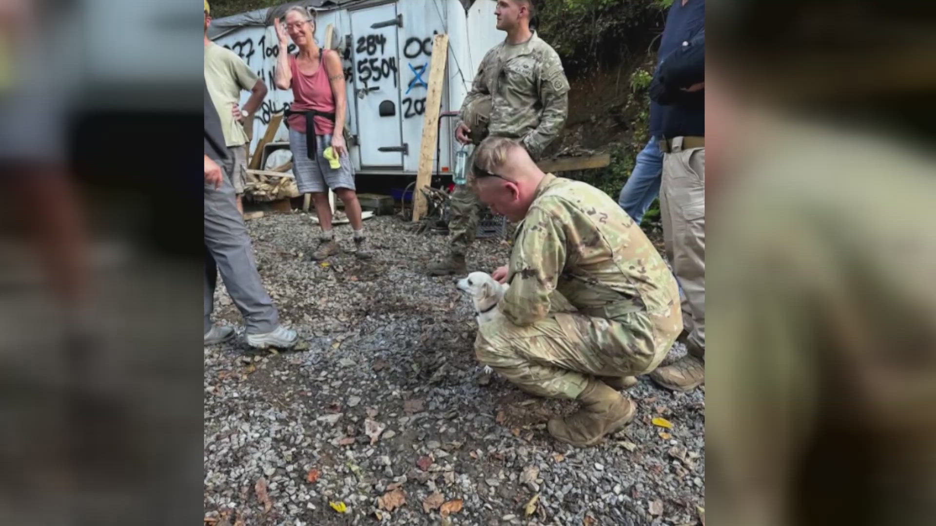
[[[574,403],[484,374],[469,300],[452,278],[421,272],[446,238],[396,217],[365,225],[372,262],[346,253],[323,266],[301,257],[317,232],[308,215],[248,222],[264,283],[309,348],[205,348],[206,523],[704,522],[704,387],[671,393],[640,378],[622,431],[587,449],[557,443],[546,420]],[[349,226],[337,233],[352,246]],[[507,253],[480,241],[469,270]],[[218,323],[242,338],[223,286],[215,301]],[[678,344],[667,361],[682,353]]]

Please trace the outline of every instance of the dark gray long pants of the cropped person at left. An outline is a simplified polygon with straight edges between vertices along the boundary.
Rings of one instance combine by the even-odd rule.
[[[279,316],[256,271],[250,236],[237,211],[234,187],[225,178],[221,188],[205,184],[205,332],[212,329],[214,286],[218,272],[227,293],[241,311],[248,334],[276,329]]]

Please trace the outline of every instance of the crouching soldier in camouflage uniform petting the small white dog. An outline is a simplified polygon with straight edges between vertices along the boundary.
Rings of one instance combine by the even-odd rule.
[[[650,373],[682,329],[672,273],[634,220],[593,186],[544,174],[517,141],[485,139],[474,189],[520,222],[506,268],[504,316],[484,324],[478,361],[531,393],[582,402],[549,433],[592,446],[622,427],[636,404],[618,389]],[[561,294],[575,313],[555,313]]]

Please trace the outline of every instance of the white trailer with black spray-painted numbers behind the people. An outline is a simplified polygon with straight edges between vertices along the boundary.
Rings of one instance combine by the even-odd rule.
[[[435,34],[449,36],[443,112],[461,108],[484,54],[505,37],[495,27],[494,0],[309,0],[294,4],[317,13],[315,38],[320,45],[325,43],[329,24],[334,27],[331,47],[344,60],[347,126],[355,137],[350,154],[358,173],[416,174]],[[271,115],[288,108],[293,100],[291,90],[277,89],[273,82],[279,47],[269,15],[275,8],[218,19],[209,33],[213,41],[238,53],[270,88],[254,120],[252,153]],[[295,52],[295,45],[290,45],[290,52]],[[244,92],[241,104],[248,97]],[[453,167],[456,120],[444,118],[440,123],[437,167],[442,174]],[[288,140],[285,124],[274,140]]]

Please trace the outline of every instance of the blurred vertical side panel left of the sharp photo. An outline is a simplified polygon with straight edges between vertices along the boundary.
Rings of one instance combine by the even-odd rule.
[[[201,515],[200,9],[0,0],[0,523]]]

